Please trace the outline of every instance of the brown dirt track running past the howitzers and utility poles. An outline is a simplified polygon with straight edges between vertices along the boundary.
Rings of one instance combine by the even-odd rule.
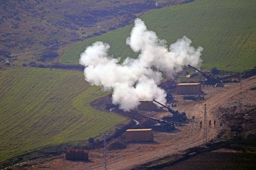
[[[179,112],[186,112],[187,117],[190,119],[186,126],[180,126],[178,130],[173,132],[153,132],[154,142],[123,142],[124,147],[120,147],[118,150],[108,150],[108,169],[109,170],[128,170],[136,169],[139,164],[145,164],[147,162],[154,162],[157,159],[175,155],[183,154],[185,150],[190,147],[195,147],[203,144],[204,129],[200,128],[200,121],[204,122],[204,104],[209,104],[207,108],[207,141],[215,140],[223,130],[229,130],[227,124],[223,118],[225,109],[232,108],[233,113],[239,112],[239,92],[240,84],[224,84],[223,88],[204,87],[205,100],[191,101],[182,100],[182,96],[174,94],[177,102],[177,108]],[[241,109],[256,108],[256,91],[250,90],[250,88],[256,86],[256,77],[250,77],[244,79],[242,82],[242,103]],[[201,105],[203,104],[203,105]],[[149,113],[152,115],[153,113]],[[155,114],[155,113],[154,113]],[[169,112],[160,112],[155,117],[160,118],[163,115],[169,115]],[[230,114],[230,113],[229,113]],[[192,116],[195,116],[195,121],[191,121]],[[212,121],[212,126],[208,127],[208,121]],[[216,127],[213,125],[213,121],[216,120]],[[221,123],[221,126],[219,125]],[[204,125],[203,125],[204,126]],[[255,127],[254,127],[255,129]],[[111,143],[116,141],[124,141],[124,136],[114,139]],[[227,151],[227,150],[226,150]],[[212,157],[221,154],[220,150],[212,151]],[[243,153],[241,153],[243,154]],[[211,157],[211,156],[210,156]],[[224,156],[225,157],[225,156]],[[223,157],[223,158],[224,158]],[[228,156],[227,156],[228,157]],[[205,162],[211,162],[211,160],[203,159]],[[226,158],[226,157],[225,157]],[[250,157],[248,161],[252,161],[254,157]],[[104,169],[104,156],[103,148],[90,150],[89,161],[69,161],[64,159],[64,155],[61,155],[55,159],[49,159],[48,161],[35,161],[33,166],[23,167],[26,170],[103,170]],[[195,156],[195,162],[197,166],[204,164],[204,161],[199,163],[202,158]],[[254,159],[255,160],[255,159]],[[246,161],[244,161],[246,162]],[[221,162],[218,162],[221,164]],[[232,163],[232,161],[231,161]],[[241,162],[243,163],[243,162]],[[186,169],[182,165],[175,165],[176,169]]]

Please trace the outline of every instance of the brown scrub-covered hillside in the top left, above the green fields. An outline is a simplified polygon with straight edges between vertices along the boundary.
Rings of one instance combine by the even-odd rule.
[[[141,13],[191,0],[2,0],[0,64],[41,62],[46,50],[104,34],[132,23]]]

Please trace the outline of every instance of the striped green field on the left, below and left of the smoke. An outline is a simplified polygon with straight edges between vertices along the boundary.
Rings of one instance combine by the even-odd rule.
[[[106,94],[81,72],[0,70],[0,162],[40,147],[85,141],[125,121],[91,108],[90,102]]]

